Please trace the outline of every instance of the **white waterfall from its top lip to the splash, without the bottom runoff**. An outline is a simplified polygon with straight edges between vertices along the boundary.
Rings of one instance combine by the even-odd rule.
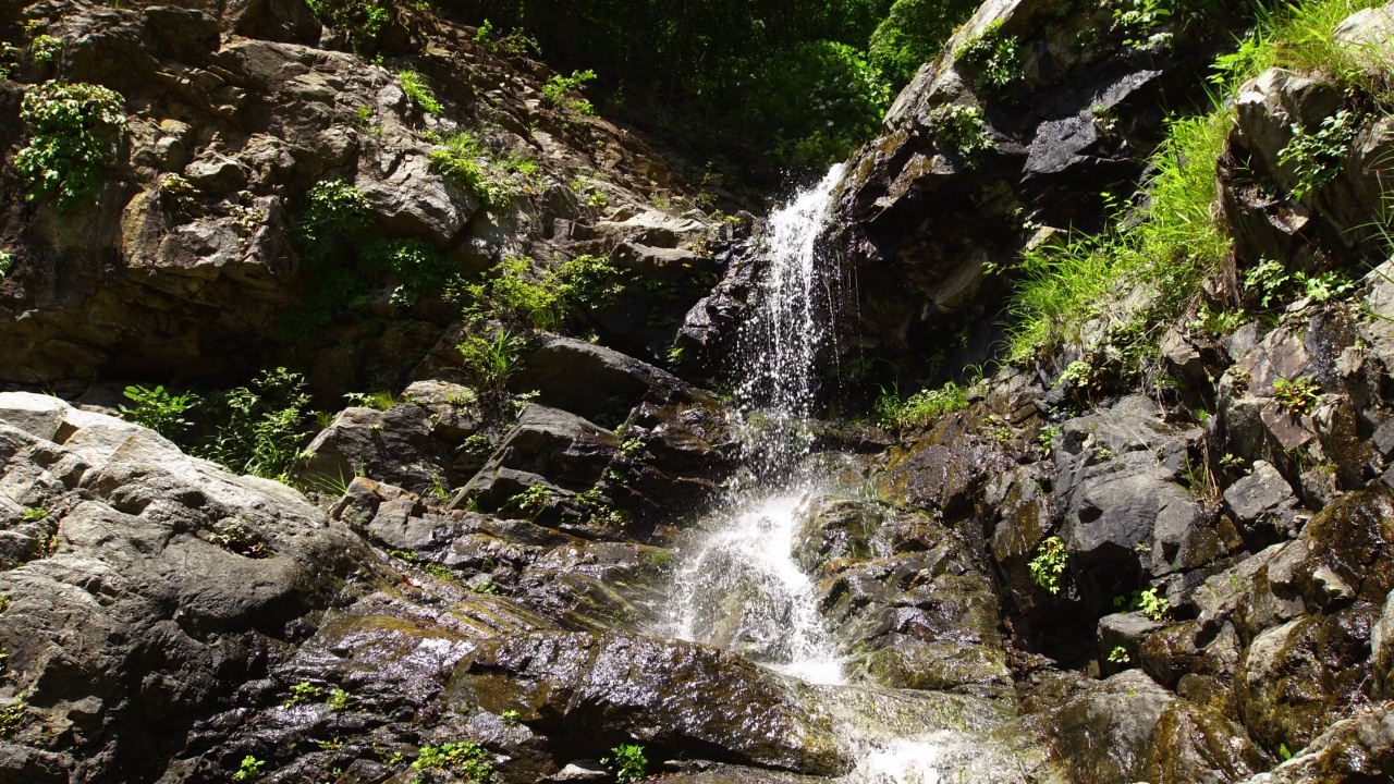
[[[756,480],[735,492],[686,561],[673,603],[677,636],[739,650],[817,684],[841,684],[842,668],[815,586],[792,551],[824,484],[796,463],[809,451],[803,425],[817,405],[818,357],[832,340],[835,303],[818,237],[841,179],[842,166],[834,166],[769,218],[761,244],[768,269],[737,354],[746,465]]]

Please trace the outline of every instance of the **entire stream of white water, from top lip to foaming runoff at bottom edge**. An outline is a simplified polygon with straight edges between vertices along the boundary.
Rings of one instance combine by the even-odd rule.
[[[1022,781],[1012,755],[981,739],[1001,724],[999,706],[850,684],[818,611],[817,585],[793,555],[813,505],[838,494],[809,467],[807,421],[841,300],[818,244],[841,179],[839,165],[768,220],[768,269],[742,328],[736,368],[747,478],[682,559],[668,631],[814,685],[857,760],[849,784]]]

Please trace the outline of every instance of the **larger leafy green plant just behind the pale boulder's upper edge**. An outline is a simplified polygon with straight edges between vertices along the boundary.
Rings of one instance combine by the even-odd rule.
[[[300,442],[309,435],[302,430],[308,406],[302,375],[283,367],[262,371],[250,385],[213,400],[223,421],[195,453],[236,473],[287,481],[301,460]]]

